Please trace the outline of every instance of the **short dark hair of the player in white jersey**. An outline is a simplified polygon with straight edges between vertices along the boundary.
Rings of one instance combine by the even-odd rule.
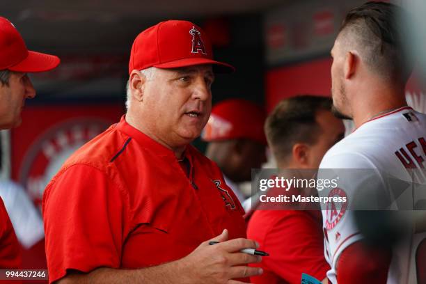
[[[349,33],[347,40],[356,37],[363,59],[372,70],[403,83],[413,69],[403,45],[400,24],[406,13],[392,3],[372,1],[350,10],[340,26],[340,33]]]

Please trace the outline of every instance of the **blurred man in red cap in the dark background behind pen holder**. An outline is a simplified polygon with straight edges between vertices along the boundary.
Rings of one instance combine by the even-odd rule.
[[[251,169],[260,168],[266,161],[265,118],[265,111],[253,102],[224,100],[213,107],[201,135],[210,142],[206,156],[219,166],[241,203],[245,196],[237,184],[251,180]]]

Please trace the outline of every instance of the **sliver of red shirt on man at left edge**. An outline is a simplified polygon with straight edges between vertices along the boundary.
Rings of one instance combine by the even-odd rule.
[[[21,268],[21,247],[17,241],[6,207],[0,198],[0,269]]]

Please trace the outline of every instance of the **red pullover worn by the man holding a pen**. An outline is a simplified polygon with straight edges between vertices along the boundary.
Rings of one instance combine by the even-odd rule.
[[[67,269],[178,260],[224,228],[245,237],[244,210],[219,168],[191,145],[185,155],[188,176],[123,117],[65,161],[43,196],[49,282]]]

